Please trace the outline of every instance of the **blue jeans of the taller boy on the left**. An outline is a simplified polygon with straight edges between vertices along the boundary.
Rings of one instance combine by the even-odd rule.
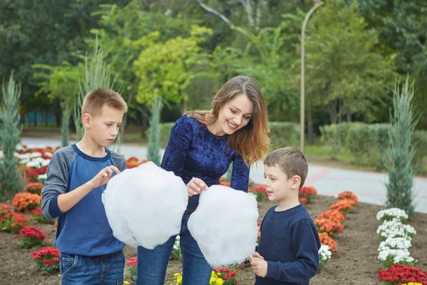
[[[123,251],[102,257],[60,253],[59,271],[62,285],[122,285],[125,254]]]

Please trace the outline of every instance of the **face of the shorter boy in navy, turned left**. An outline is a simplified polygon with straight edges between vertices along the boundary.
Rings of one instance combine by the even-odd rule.
[[[278,165],[264,165],[264,178],[265,190],[270,201],[281,201],[295,194],[293,180],[288,178]]]

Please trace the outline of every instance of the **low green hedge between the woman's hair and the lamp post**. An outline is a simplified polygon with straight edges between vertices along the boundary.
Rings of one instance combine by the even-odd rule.
[[[290,122],[269,122],[271,148],[297,147],[300,141],[300,125]]]

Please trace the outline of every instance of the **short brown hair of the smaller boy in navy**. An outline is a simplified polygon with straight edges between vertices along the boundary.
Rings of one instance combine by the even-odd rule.
[[[288,179],[294,175],[298,175],[301,178],[300,189],[307,178],[307,158],[305,158],[300,150],[294,147],[283,147],[271,152],[270,155],[265,157],[264,165],[278,165],[280,170],[288,175]]]

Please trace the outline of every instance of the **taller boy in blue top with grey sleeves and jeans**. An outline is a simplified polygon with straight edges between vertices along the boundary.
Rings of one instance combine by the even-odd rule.
[[[46,219],[58,218],[62,284],[122,284],[125,256],[112,235],[101,201],[106,183],[126,168],[126,161],[107,150],[117,137],[125,100],[109,89],[85,96],[85,133],[75,145],[55,152],[41,192]]]

